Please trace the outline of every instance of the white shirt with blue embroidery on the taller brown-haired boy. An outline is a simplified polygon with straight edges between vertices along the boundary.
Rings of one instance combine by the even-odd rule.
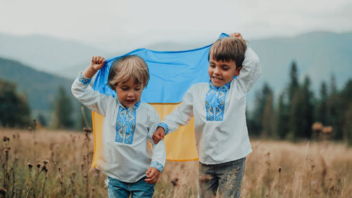
[[[206,82],[193,85],[184,94],[182,104],[159,124],[170,133],[179,125],[187,125],[194,116],[196,147],[201,163],[234,161],[252,151],[246,125],[246,94],[259,78],[261,68],[252,49],[248,48],[244,57],[243,68],[230,82],[230,87],[227,84],[219,87],[219,91],[213,91],[212,85]],[[209,94],[216,94],[217,99],[211,99]],[[222,105],[224,100],[225,105]]]

